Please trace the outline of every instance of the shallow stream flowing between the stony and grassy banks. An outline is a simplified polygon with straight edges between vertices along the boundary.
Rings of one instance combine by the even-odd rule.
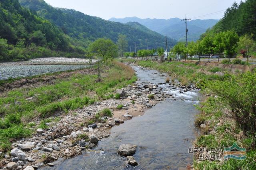
[[[155,70],[134,67],[138,83],[163,83],[166,75]],[[194,115],[198,110],[198,91],[179,93],[182,89],[173,89],[170,85],[159,85],[164,93],[174,98],[156,104],[145,111],[141,117],[134,117],[124,124],[111,129],[108,138],[98,142],[94,151],[67,160],[58,160],[56,170],[107,170],[107,169],[186,169],[193,160],[188,154],[195,138]],[[176,101],[174,100],[176,99]],[[126,166],[126,158],[117,154],[120,144],[132,143],[138,146],[133,155],[139,166]]]

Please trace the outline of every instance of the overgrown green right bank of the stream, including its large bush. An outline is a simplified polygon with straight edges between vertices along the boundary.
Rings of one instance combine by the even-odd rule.
[[[122,59],[125,62],[131,60]],[[136,64],[167,72],[183,85],[194,83],[201,88],[205,101],[196,106],[200,115],[195,126],[201,129],[195,147],[224,148],[234,142],[246,148],[245,160],[194,161],[199,170],[256,169],[256,73],[230,73],[217,67],[194,63],[156,63],[136,61]],[[221,71],[223,74],[214,74]],[[200,127],[200,125],[206,125]]]

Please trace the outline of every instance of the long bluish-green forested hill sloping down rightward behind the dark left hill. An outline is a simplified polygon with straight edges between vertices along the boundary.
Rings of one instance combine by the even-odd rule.
[[[20,0],[20,4],[52,23],[56,24],[65,34],[72,38],[88,44],[98,38],[110,38],[117,42],[118,34],[127,36],[129,50],[130,46],[134,50],[134,44],[138,49],[146,48],[146,39],[148,47],[164,47],[165,37],[156,33],[134,28],[128,24],[110,22],[98,17],[88,16],[75,10],[54,8],[48,5],[44,0]],[[168,39],[170,45],[176,43],[175,40]],[[127,49],[128,50],[128,49]]]

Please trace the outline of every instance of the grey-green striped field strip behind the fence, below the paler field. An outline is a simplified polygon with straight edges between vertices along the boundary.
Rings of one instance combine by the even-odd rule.
[[[91,65],[0,65],[0,80],[88,67],[91,67]]]

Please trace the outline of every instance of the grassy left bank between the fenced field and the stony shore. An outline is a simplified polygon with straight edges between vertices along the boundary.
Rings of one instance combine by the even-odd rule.
[[[45,120],[68,110],[82,108],[97,100],[114,97],[114,90],[136,81],[133,69],[113,61],[103,73],[102,82],[97,75],[73,74],[55,79],[49,85],[22,87],[6,91],[0,96],[0,150],[8,150],[10,141],[30,136],[34,120]],[[55,121],[58,119],[55,119]]]

